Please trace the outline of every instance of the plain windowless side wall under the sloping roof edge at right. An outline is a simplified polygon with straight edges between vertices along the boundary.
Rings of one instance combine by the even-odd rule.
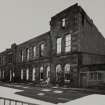
[[[80,20],[80,52],[105,55],[105,38],[94,25],[93,21],[82,11]]]

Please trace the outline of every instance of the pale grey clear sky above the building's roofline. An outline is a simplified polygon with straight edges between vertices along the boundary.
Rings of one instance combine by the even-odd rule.
[[[105,0],[0,0],[0,52],[49,31],[51,17],[75,3],[105,37]]]

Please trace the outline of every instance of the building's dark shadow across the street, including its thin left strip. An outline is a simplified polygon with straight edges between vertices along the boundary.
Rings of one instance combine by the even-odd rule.
[[[92,92],[87,91],[76,91],[72,89],[63,89],[63,88],[41,88],[41,87],[34,87],[26,84],[5,84],[0,83],[1,86],[9,87],[9,88],[15,88],[23,90],[21,92],[16,92],[15,94],[38,99],[41,101],[51,102],[54,104],[57,103],[66,103],[71,100],[75,100],[90,94],[93,94]]]

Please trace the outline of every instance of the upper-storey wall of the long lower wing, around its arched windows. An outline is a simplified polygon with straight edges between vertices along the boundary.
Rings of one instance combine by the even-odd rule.
[[[33,38],[32,40],[29,40],[25,43],[22,43],[18,45],[17,47],[17,52],[16,52],[16,60],[17,62],[22,62],[21,61],[21,51],[23,51],[23,61],[27,62],[27,56],[26,56],[26,49],[29,48],[29,61],[35,60],[35,59],[40,59],[40,44],[44,43],[45,44],[45,51],[44,51],[44,57],[49,57],[50,56],[50,35],[49,32],[45,33],[39,37]],[[36,46],[36,57],[33,57],[33,47]]]

